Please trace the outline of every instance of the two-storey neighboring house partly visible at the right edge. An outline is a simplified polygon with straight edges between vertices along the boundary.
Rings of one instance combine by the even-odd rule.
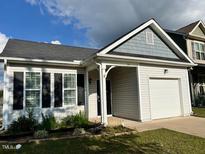
[[[185,51],[197,66],[190,70],[190,87],[193,105],[205,106],[205,25],[191,23],[177,31],[167,33]]]

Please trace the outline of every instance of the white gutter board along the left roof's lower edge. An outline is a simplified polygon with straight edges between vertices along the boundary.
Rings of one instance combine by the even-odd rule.
[[[42,59],[27,59],[27,58],[13,58],[13,57],[0,57],[0,60],[7,60],[13,61],[13,62],[19,62],[19,63],[45,63],[45,64],[61,64],[61,65],[80,65],[81,61],[58,61],[58,60],[42,60]]]

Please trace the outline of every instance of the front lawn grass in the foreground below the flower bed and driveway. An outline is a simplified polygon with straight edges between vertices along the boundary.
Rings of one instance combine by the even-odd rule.
[[[66,154],[66,153],[139,153],[204,154],[205,139],[167,129],[146,131],[117,137],[77,138],[23,144],[18,151],[0,153]]]

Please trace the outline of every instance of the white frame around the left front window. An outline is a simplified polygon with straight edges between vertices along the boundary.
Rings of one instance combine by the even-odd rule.
[[[26,88],[26,73],[40,73],[40,89],[27,89]],[[28,106],[26,106],[26,91],[32,91],[32,90],[40,90],[39,106],[36,106],[36,107],[28,107]],[[24,99],[23,99],[23,108],[24,109],[42,108],[42,72],[41,71],[24,71]]]

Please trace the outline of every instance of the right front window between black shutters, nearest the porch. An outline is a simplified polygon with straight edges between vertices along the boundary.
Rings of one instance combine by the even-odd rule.
[[[76,74],[64,74],[64,105],[76,104]]]

